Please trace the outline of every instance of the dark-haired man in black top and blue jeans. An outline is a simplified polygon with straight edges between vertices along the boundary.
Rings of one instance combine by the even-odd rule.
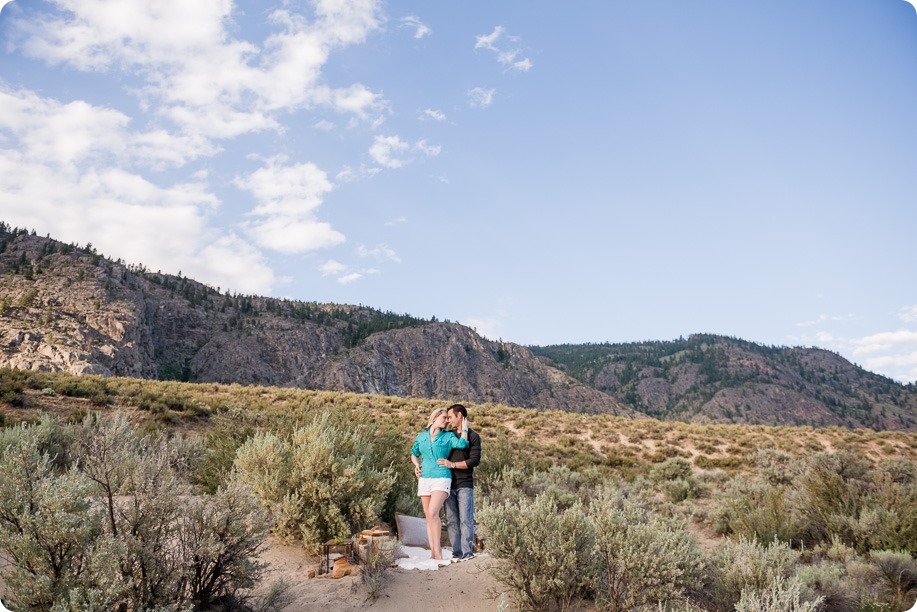
[[[452,429],[461,431],[468,410],[453,404],[446,414]],[[480,462],[481,436],[473,429],[468,430],[468,448],[454,448],[448,459],[437,461],[452,470],[452,491],[444,505],[452,556],[458,560],[474,557],[474,468]]]

